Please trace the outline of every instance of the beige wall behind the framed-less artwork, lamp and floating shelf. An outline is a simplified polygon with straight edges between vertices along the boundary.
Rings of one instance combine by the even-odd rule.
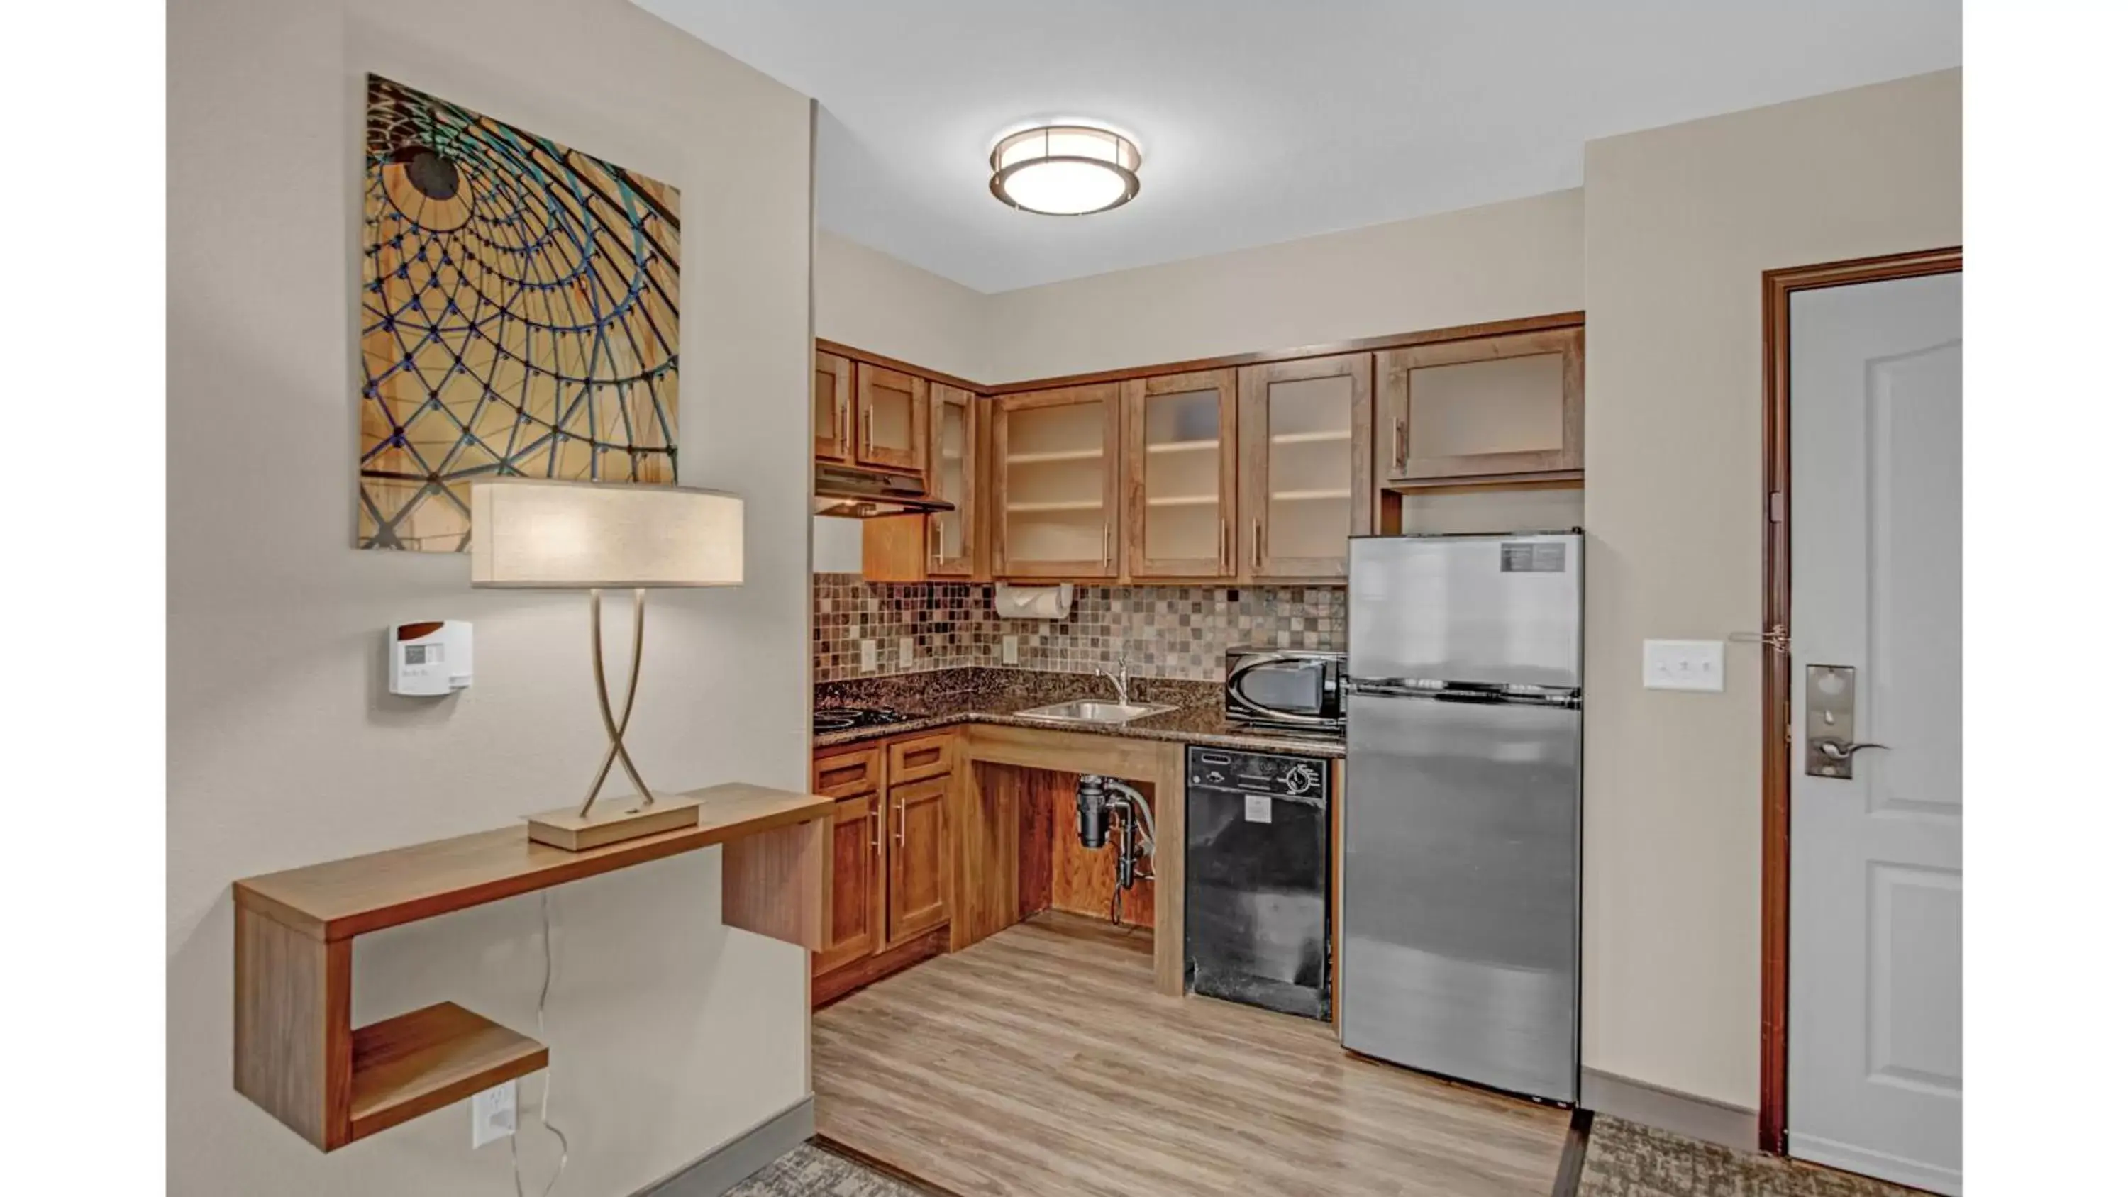
[[[509,1193],[462,1103],[319,1154],[230,1086],[232,878],[509,825],[602,746],[583,595],[349,546],[362,74],[683,189],[681,478],[745,495],[747,585],[653,597],[632,742],[675,789],[804,782],[809,104],[626,0],[196,0],[168,45],[170,1191]],[[381,693],[383,627],[428,617],[475,623],[472,689]],[[807,1093],[807,957],[726,931],[717,872],[551,891],[566,1193],[632,1193]],[[538,931],[523,897],[366,935],[355,1018],[453,999],[530,1033]],[[528,1127],[523,1154],[538,1191],[553,1148]]]

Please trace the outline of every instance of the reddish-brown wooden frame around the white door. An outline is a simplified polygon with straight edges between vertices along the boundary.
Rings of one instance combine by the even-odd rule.
[[[1758,1146],[1788,1154],[1788,693],[1790,693],[1790,525],[1788,525],[1788,300],[1796,291],[1851,287],[1966,268],[1964,247],[1851,257],[1764,274],[1764,495],[1760,495],[1766,619],[1760,691],[1760,1035]]]

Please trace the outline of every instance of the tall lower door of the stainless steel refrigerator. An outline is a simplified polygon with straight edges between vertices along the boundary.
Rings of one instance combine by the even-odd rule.
[[[1345,1046],[1573,1101],[1581,712],[1353,695],[1349,714]]]

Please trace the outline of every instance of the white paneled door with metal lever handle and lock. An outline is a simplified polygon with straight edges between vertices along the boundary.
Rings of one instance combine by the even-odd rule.
[[[1960,281],[1792,293],[1788,500],[1788,1150],[1951,1195],[1964,1086]],[[1851,780],[1811,757],[1845,680],[1813,682],[1811,665],[1853,670],[1845,742],[1881,744],[1851,753]]]

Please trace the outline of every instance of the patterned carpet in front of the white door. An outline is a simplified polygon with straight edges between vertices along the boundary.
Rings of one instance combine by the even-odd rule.
[[[1885,1184],[1781,1159],[1739,1154],[1617,1118],[1596,1114],[1579,1197],[1924,1197]]]

